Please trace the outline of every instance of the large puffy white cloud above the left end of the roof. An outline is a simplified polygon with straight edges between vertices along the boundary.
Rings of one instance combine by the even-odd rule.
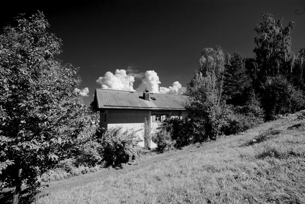
[[[135,82],[135,77],[130,76],[129,78],[125,69],[117,69],[114,74],[106,72],[105,76],[100,76],[96,82],[101,85],[102,89],[128,91],[130,86],[130,90],[134,91],[133,83]]]

